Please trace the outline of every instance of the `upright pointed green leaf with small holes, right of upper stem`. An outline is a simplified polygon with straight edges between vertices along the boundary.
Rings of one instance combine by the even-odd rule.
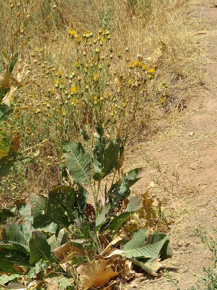
[[[102,173],[104,178],[106,175],[110,174],[112,169],[115,167],[118,155],[120,151],[121,138],[111,140],[108,147],[105,148],[103,153],[103,167]]]

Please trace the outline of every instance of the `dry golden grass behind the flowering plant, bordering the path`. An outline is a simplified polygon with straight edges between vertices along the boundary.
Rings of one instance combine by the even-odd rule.
[[[46,1],[43,3],[37,11],[41,20],[51,11],[51,5]],[[137,124],[133,125],[135,131],[128,142],[128,147],[132,150],[126,155],[126,167],[129,160],[132,160],[133,150],[137,148],[138,143],[139,147],[143,146],[144,142],[150,142],[148,148],[160,148],[165,136],[179,136],[186,116],[183,109],[187,102],[187,94],[192,87],[200,84],[198,75],[201,74],[203,65],[203,47],[198,48],[196,45],[196,41],[201,37],[198,34],[198,31],[201,31],[201,23],[198,23],[198,19],[190,17],[190,3],[180,0],[152,0],[150,6],[148,3],[149,1],[145,0],[59,2],[56,13],[38,28],[28,46],[22,51],[22,57],[25,58],[34,47],[43,47],[43,60],[46,59],[59,70],[71,70],[76,52],[68,37],[69,29],[73,28],[82,33],[87,29],[98,31],[104,26],[111,30],[111,45],[116,53],[128,46],[131,59],[136,59],[139,55],[144,62],[156,67],[155,82],[157,84],[165,81],[169,93],[163,106],[159,103],[159,96],[155,95],[137,112]],[[31,30],[31,27],[28,29]],[[210,37],[211,32],[207,32],[207,36],[208,34]],[[0,35],[4,41],[4,34]],[[31,118],[30,114],[28,126],[31,126]],[[37,144],[38,139],[43,138],[46,128],[41,126],[40,122],[34,126],[38,126],[37,135],[34,136],[34,142]],[[156,139],[159,142],[156,143]],[[43,154],[55,155],[52,151],[53,149],[46,147]],[[134,161],[130,163],[135,163]],[[24,171],[27,186],[23,194],[32,190],[46,191],[54,180],[60,181],[58,171],[59,168],[55,164],[47,167],[44,164],[27,166]]]

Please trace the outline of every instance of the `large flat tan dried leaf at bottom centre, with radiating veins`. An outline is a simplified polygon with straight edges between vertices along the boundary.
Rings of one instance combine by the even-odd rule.
[[[104,286],[111,278],[119,273],[114,272],[106,260],[93,260],[92,263],[84,263],[77,268],[80,275],[80,287],[82,289],[98,288]]]

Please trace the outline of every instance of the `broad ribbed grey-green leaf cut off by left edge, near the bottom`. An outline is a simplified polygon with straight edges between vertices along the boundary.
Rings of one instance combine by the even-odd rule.
[[[29,255],[29,244],[27,238],[23,235],[21,228],[15,223],[6,224],[3,228],[0,240],[0,247],[18,250]]]

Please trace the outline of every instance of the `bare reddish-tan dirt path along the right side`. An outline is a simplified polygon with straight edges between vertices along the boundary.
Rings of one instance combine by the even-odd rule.
[[[212,232],[213,226],[217,226],[214,211],[217,205],[217,8],[203,2],[198,1],[195,13],[191,15],[201,20],[206,18],[205,23],[208,22],[204,32],[198,33],[195,46],[200,46],[203,37],[207,37],[209,32],[212,35],[215,33],[215,37],[210,38],[207,47],[201,48],[205,52],[203,57],[210,61],[204,68],[201,86],[188,91],[192,98],[187,104],[185,128],[181,134],[160,136],[153,142],[134,146],[129,153],[129,156],[134,156],[132,167],[144,164],[146,155],[156,158],[163,166],[161,172],[164,173],[159,180],[163,190],[158,188],[156,196],[163,200],[166,209],[172,201],[178,200],[181,203],[181,207],[168,211],[174,220],[170,228],[174,257],[167,261],[168,270],[180,281],[181,289],[188,289],[196,281],[193,274],[199,275],[203,265],[209,263],[210,254],[195,237],[193,227],[201,224]],[[177,180],[173,176],[175,171],[178,171],[183,184],[171,189],[170,181]],[[150,176],[156,178],[155,175],[156,169],[150,166],[147,175],[134,190],[144,191]],[[168,190],[168,196],[162,193],[165,189]],[[147,290],[176,289],[163,277],[138,281],[138,284],[141,289]]]

